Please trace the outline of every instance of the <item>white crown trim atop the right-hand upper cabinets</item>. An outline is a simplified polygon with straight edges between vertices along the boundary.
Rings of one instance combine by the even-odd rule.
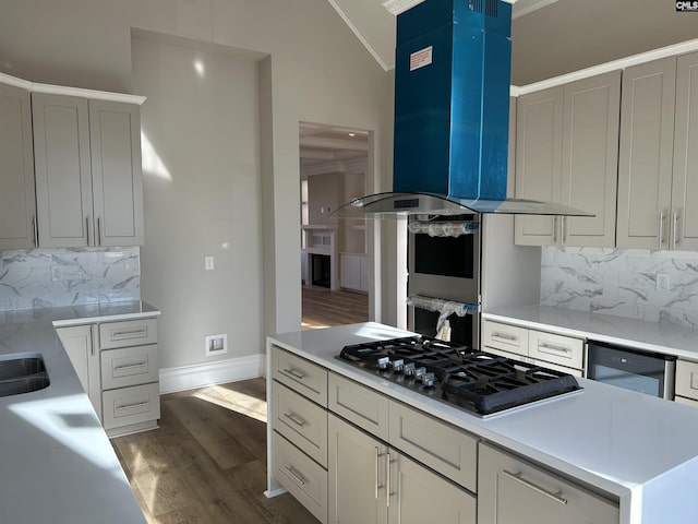
[[[559,76],[554,76],[552,79],[543,80],[541,82],[535,82],[533,84],[527,84],[520,87],[513,85],[510,93],[512,93],[512,96],[526,95],[528,93],[546,90],[549,87],[555,87],[557,85],[567,84],[569,82],[574,82],[577,80],[595,76],[597,74],[623,70],[623,69],[629,68],[630,66],[637,66],[638,63],[651,62],[652,60],[659,60],[660,58],[674,57],[678,55],[684,55],[686,52],[693,52],[696,50],[698,50],[698,38],[693,40],[682,41],[679,44],[674,44],[672,46],[660,47],[659,49],[653,49],[647,52],[640,52],[638,55],[621,58],[618,60],[613,60],[611,62],[600,63],[598,66],[592,66],[590,68],[580,69],[579,71],[562,74]]]

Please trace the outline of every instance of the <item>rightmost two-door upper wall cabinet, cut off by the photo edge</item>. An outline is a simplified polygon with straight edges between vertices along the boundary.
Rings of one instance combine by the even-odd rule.
[[[624,72],[617,245],[698,250],[698,52]]]

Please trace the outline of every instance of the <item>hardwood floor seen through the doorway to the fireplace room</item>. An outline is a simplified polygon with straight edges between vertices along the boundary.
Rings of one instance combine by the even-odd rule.
[[[353,324],[369,320],[369,296],[318,287],[302,288],[302,329]]]

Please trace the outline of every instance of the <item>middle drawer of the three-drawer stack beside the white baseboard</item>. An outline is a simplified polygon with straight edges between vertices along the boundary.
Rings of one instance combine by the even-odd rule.
[[[106,349],[100,358],[103,390],[158,381],[157,344]]]

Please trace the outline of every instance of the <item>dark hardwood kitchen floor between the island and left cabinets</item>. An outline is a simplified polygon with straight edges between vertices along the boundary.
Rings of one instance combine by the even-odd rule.
[[[111,441],[149,524],[317,521],[267,499],[266,385],[252,379],[160,397],[160,428]]]

